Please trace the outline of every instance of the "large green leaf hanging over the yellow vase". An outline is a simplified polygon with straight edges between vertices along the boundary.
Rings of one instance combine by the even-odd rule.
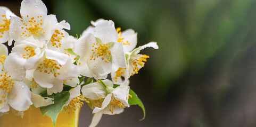
[[[50,97],[54,98],[54,104],[40,107],[42,115],[47,115],[52,118],[53,126],[55,126],[57,116],[61,112],[63,105],[69,100],[69,92],[62,91],[61,93],[52,94]]]

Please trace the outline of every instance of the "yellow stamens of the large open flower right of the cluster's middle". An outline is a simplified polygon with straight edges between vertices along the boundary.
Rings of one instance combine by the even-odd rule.
[[[90,58],[90,60],[95,60],[95,58],[101,57],[102,60],[105,59],[105,62],[109,63],[111,51],[109,50],[110,46],[108,46],[108,44],[93,43],[92,47],[95,48],[92,49],[93,55],[92,58]]]

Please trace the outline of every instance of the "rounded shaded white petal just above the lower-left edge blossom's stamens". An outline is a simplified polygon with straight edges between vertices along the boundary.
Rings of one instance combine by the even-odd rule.
[[[9,71],[9,74],[13,79],[22,80],[26,76],[25,69],[26,60],[23,59],[20,53],[14,52],[5,60],[5,68]]]

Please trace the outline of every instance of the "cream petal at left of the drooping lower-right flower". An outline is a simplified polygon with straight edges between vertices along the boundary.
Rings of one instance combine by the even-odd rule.
[[[95,82],[82,87],[82,96],[89,99],[98,99],[106,97],[106,89],[101,83]]]

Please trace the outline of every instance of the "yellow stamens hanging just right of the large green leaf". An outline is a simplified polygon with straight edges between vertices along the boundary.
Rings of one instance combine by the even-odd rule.
[[[77,107],[82,107],[82,105],[84,104],[84,102],[82,101],[85,101],[87,104],[89,103],[89,101],[87,101],[87,99],[80,94],[78,97],[71,99],[71,101],[69,102],[69,105],[65,106],[64,108],[65,110],[69,109],[73,113],[75,113],[75,111],[77,110]]]

